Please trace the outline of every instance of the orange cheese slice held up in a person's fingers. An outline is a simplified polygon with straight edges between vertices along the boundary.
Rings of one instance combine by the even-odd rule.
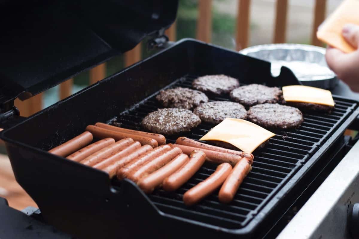
[[[355,51],[342,37],[342,28],[346,23],[359,25],[359,1],[345,0],[340,6],[327,18],[317,32],[317,38],[322,42],[338,48],[342,52],[350,53]]]

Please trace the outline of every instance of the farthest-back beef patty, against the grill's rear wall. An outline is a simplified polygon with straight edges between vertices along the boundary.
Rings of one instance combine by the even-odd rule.
[[[226,75],[207,75],[201,76],[192,82],[192,87],[196,90],[221,95],[229,93],[239,86],[239,81]]]

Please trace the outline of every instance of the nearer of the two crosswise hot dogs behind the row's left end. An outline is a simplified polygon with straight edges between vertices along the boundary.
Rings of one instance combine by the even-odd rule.
[[[134,134],[127,134],[122,132],[116,132],[113,130],[103,129],[94,125],[88,125],[86,127],[86,130],[91,132],[95,138],[103,139],[103,138],[114,138],[115,140],[120,140],[123,138],[131,138],[135,141],[138,141],[141,143],[141,145],[149,144],[152,146],[152,148],[155,148],[158,146],[158,143],[156,140],[151,139],[149,137],[144,137],[140,135],[134,135]]]

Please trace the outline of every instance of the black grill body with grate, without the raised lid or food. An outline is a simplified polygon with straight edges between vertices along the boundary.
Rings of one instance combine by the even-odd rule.
[[[258,230],[281,213],[295,187],[311,181],[312,169],[325,164],[325,153],[358,115],[358,102],[334,96],[331,114],[304,114],[298,129],[275,132],[269,145],[253,152],[253,169],[228,205],[218,202],[217,193],[196,206],[182,202],[186,190],[214,171],[210,163],[174,193],[159,189],[145,195],[131,181],[110,181],[102,171],[46,152],[96,122],[117,121],[141,129],[142,118],[160,107],[154,99],[159,90],[191,87],[196,76],[209,74],[236,77],[242,84],[298,84],[285,67],[280,76],[272,77],[268,62],[181,40],[1,133],[17,181],[48,223],[81,238],[256,238]],[[199,139],[211,127],[201,124],[181,136]],[[166,138],[171,143],[177,136]]]

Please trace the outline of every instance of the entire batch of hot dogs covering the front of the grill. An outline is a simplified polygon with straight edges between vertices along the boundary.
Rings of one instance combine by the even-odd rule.
[[[178,138],[176,144],[165,144],[163,135],[103,123],[89,125],[86,130],[49,152],[101,169],[110,178],[115,175],[120,180],[128,178],[145,193],[160,186],[165,191],[175,191],[190,180],[206,160],[218,163],[213,174],[183,195],[186,205],[196,204],[221,185],[219,200],[232,201],[252,168],[253,155],[250,153],[186,137]],[[90,144],[93,138],[100,140]]]

